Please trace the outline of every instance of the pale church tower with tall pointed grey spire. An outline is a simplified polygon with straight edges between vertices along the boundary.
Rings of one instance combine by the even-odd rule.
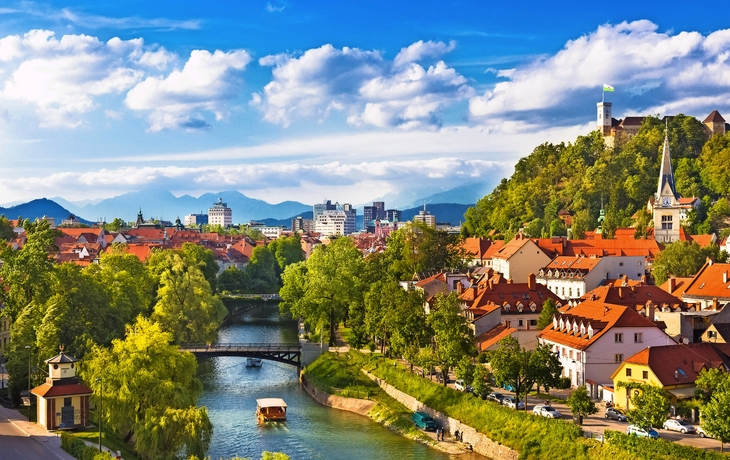
[[[679,240],[679,228],[679,194],[674,186],[672,158],[669,153],[669,129],[666,129],[659,182],[654,195],[654,239],[659,243],[673,243]]]

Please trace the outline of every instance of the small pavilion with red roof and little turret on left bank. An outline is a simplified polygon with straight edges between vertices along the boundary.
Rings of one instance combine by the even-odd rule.
[[[78,359],[61,353],[46,360],[46,383],[30,392],[38,397],[38,424],[47,430],[82,428],[89,424],[92,391],[76,377]]]

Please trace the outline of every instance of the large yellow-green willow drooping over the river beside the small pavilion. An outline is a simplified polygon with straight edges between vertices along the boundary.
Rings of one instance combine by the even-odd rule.
[[[207,411],[196,407],[203,391],[195,377],[197,361],[172,345],[172,338],[139,317],[124,340],[94,347],[82,371],[95,395],[103,386],[105,425],[125,441],[134,436],[144,458],[202,457],[210,444]]]

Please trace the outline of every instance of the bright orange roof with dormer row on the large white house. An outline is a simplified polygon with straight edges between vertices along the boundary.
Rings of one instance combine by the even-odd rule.
[[[555,317],[557,321],[560,321],[561,318],[563,321],[569,322],[571,327],[560,330],[560,326],[558,326],[556,330],[551,324],[542,330],[539,337],[577,350],[585,350],[590,347],[613,327],[657,327],[656,324],[631,308],[595,301],[582,302],[574,307],[566,305],[559,309],[559,314]],[[586,333],[581,334],[580,330],[577,334],[573,333],[573,322],[577,323],[579,327],[582,323],[586,328]],[[589,325],[593,329],[592,335],[588,333]]]

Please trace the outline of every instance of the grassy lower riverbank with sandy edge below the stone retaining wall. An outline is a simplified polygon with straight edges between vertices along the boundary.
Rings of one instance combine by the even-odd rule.
[[[435,433],[421,431],[411,420],[413,411],[383,391],[373,380],[360,372],[359,366],[348,365],[349,354],[328,353],[302,372],[302,387],[319,403],[340,410],[364,415],[408,439],[423,443],[450,455],[485,458],[469,450],[468,443],[452,436],[436,440]],[[338,396],[333,393],[367,395],[368,399]]]

